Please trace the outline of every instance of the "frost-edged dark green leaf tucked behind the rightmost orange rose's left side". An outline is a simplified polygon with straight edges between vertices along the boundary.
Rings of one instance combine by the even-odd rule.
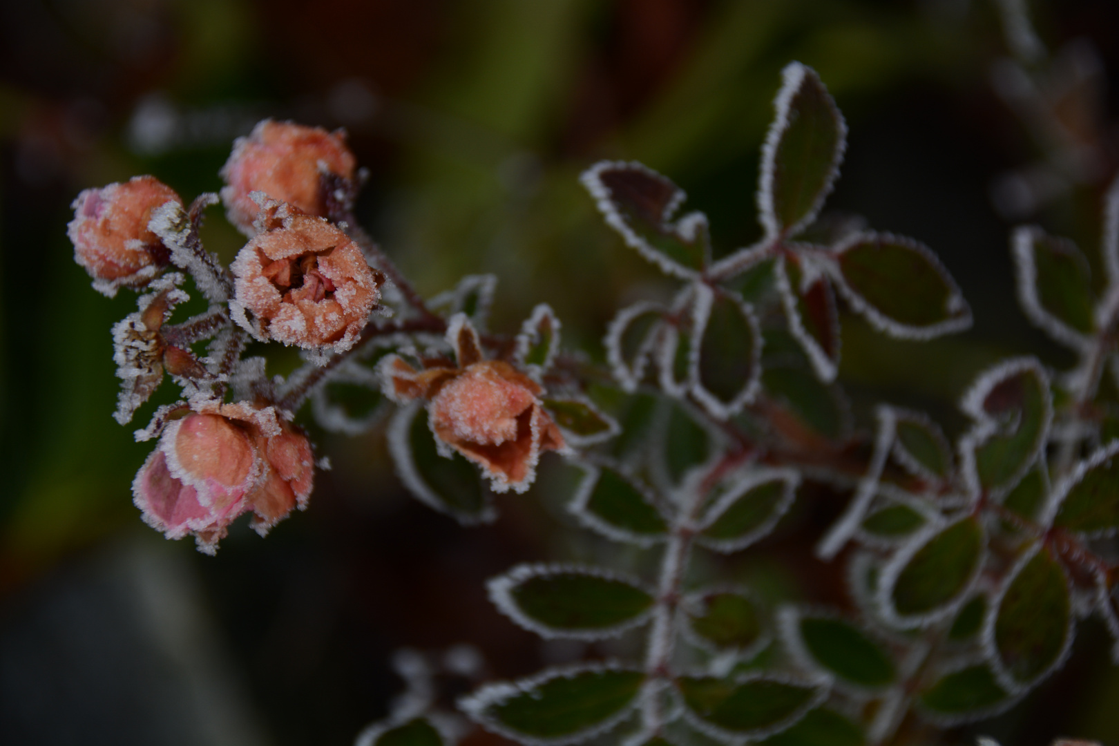
[[[393,456],[393,463],[396,465],[396,474],[413,497],[426,506],[451,516],[460,523],[473,526],[491,522],[497,518],[497,511],[493,509],[492,498],[489,492],[481,485],[474,468],[458,454],[452,454],[450,459],[445,460],[445,463],[441,463],[444,462],[444,456],[439,454],[438,438],[432,434],[426,422],[422,425],[417,424],[421,418],[426,421],[425,414],[423,403],[413,402],[401,407],[388,425],[388,452]],[[417,432],[420,428],[424,432]],[[423,474],[415,462],[416,440],[425,436],[434,441],[431,443],[431,452],[425,454],[425,457],[429,457],[429,461],[431,461],[430,456],[438,459],[438,461],[431,462],[436,465],[429,465],[429,469],[442,466],[448,470],[448,473],[440,480],[441,485],[444,488],[449,485],[466,487],[468,492],[471,493],[473,490],[470,490],[470,488],[473,487],[477,489],[477,495],[468,494],[464,499],[458,498],[451,500],[438,491],[436,485],[432,483],[432,479],[435,475]],[[425,441],[423,445],[426,446]],[[453,473],[450,470],[454,470]]]

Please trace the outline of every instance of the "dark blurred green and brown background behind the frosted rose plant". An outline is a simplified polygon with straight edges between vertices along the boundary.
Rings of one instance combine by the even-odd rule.
[[[1050,49],[1088,39],[1119,81],[1119,3],[1035,10]],[[557,463],[501,499],[496,523],[464,529],[404,493],[380,436],[329,436],[305,413],[333,462],[305,513],[265,540],[241,526],[216,558],[163,541],[130,495],[149,446],[110,417],[110,325],[133,299],[96,294],[73,262],[81,189],[152,173],[190,199],[219,188],[233,138],[258,119],[345,126],[369,169],[359,216],[422,292],[493,272],[495,329],[546,301],[565,343],[601,358],[614,311],[671,285],[602,226],[579,173],[641,160],[708,213],[716,252],[753,240],[758,151],[780,69],[799,59],[850,126],[829,207],[929,244],[976,315],[933,344],[845,318],[841,380],[856,414],[916,404],[953,435],[980,367],[1024,351],[1071,362],[1018,311],[1012,223],[990,198],[1000,174],[1043,158],[993,91],[1006,54],[980,0],[6,0],[0,743],[348,744],[398,691],[399,646],[469,642],[499,677],[582,655],[515,629],[482,584],[518,560],[608,551],[557,509]],[[1098,94],[1113,122],[1119,89]],[[1115,142],[1113,126],[1101,132]],[[1023,217],[1094,262],[1104,186],[1074,183]],[[204,237],[227,259],[242,240],[218,210]],[[771,598],[841,603],[836,568],[809,553],[836,510],[809,490],[724,572]],[[1119,745],[1107,646],[1085,623],[1025,706],[950,738]]]

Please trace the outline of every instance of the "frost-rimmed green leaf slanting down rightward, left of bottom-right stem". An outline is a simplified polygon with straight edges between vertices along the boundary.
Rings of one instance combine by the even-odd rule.
[[[844,638],[838,640],[841,643],[839,649],[833,646],[831,650],[821,650],[821,640],[807,640],[803,629],[806,621],[819,621],[843,629],[840,634]],[[882,692],[899,678],[897,665],[890,650],[852,620],[834,611],[782,606],[778,610],[777,627],[786,650],[801,667],[830,677],[834,684],[853,693]],[[833,639],[829,642],[837,641]],[[862,660],[856,660],[855,657],[859,655]]]

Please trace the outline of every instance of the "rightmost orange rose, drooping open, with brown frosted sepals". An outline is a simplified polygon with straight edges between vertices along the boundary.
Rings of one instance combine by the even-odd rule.
[[[502,360],[482,360],[478,333],[457,314],[446,332],[458,366],[429,361],[416,370],[399,356],[382,362],[385,393],[399,404],[423,398],[443,455],[458,451],[480,465],[493,490],[524,492],[544,451],[566,451],[538,396],[539,384]]]

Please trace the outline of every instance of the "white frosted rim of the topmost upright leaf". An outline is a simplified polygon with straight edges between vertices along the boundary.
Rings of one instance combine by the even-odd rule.
[[[816,196],[812,208],[798,223],[784,227],[784,236],[788,237],[799,233],[805,226],[816,219],[817,214],[819,214],[820,208],[824,206],[824,201],[831,193],[836,178],[839,176],[839,166],[843,163],[843,157],[847,150],[847,122],[844,120],[839,107],[836,106],[835,100],[828,92],[827,86],[820,81],[820,76],[811,67],[798,62],[786,65],[784,69],[781,70],[781,88],[773,98],[774,116],[769,131],[765,133],[765,142],[762,144],[761,173],[758,179],[758,219],[768,237],[781,235],[781,226],[778,224],[777,214],[773,209],[773,176],[777,149],[781,144],[781,135],[789,129],[789,110],[792,98],[809,77],[816,78],[816,83],[824,89],[824,95],[836,116],[839,138],[836,153],[831,160],[830,173],[824,185],[824,189]]]

